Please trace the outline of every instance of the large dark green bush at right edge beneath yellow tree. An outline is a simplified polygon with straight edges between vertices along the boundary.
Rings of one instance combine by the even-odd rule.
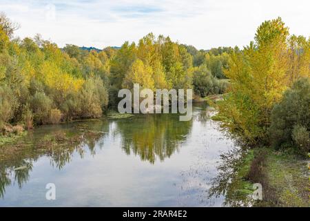
[[[306,145],[305,136],[308,133],[309,138],[310,131],[309,110],[310,80],[303,78],[296,81],[285,92],[282,101],[273,107],[269,137],[274,147],[291,146],[295,143]]]

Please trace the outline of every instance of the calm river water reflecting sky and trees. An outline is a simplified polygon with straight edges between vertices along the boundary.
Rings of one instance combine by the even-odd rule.
[[[41,126],[0,147],[0,206],[222,206],[209,197],[236,148],[207,105],[193,118],[135,115]],[[56,200],[47,200],[46,185]]]

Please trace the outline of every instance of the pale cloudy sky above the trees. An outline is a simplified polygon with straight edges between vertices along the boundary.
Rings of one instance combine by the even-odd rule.
[[[291,34],[310,36],[309,0],[0,0],[20,24],[16,36],[77,46],[121,46],[149,32],[198,49],[246,46],[265,20],[282,17]]]

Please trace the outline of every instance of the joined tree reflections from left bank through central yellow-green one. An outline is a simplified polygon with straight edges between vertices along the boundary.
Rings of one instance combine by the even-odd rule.
[[[115,124],[116,127],[111,125]],[[134,119],[94,120],[58,126],[42,126],[23,140],[0,151],[0,197],[6,186],[17,182],[19,188],[28,182],[34,162],[48,157],[59,170],[70,163],[74,154],[81,158],[88,151],[96,154],[107,135],[121,135],[125,153],[140,155],[141,160],[163,161],[178,151],[186,140],[192,121],[180,122],[178,115],[136,115]]]

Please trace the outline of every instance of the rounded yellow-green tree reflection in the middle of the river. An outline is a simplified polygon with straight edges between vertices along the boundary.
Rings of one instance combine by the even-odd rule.
[[[178,151],[192,128],[192,121],[180,122],[179,116],[172,114],[140,115],[134,121],[118,121],[116,133],[121,134],[127,155],[134,153],[152,164],[156,158],[163,161]]]

